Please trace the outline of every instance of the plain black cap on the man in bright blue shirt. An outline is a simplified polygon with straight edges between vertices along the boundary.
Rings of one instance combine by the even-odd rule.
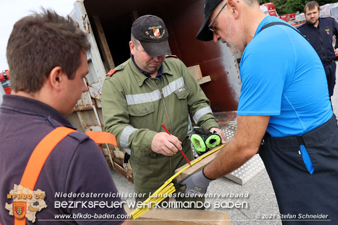
[[[211,41],[213,33],[208,28],[208,20],[210,19],[212,11],[222,2],[222,0],[205,0],[204,5],[204,22],[196,35],[196,39],[201,41]]]

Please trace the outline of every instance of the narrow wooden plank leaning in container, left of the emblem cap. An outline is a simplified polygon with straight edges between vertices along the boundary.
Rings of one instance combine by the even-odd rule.
[[[109,67],[108,69],[114,69],[115,68],[114,60],[113,60],[113,57],[111,56],[100,18],[99,16],[94,15],[93,19],[94,19],[97,32],[99,34],[99,45],[102,50],[103,58],[108,63],[108,67]]]

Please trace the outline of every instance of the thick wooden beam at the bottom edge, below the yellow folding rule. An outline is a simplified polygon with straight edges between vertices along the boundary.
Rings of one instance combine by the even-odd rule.
[[[125,205],[125,210],[128,214],[130,214],[133,209],[130,209]],[[137,225],[231,224],[228,213],[226,211],[174,209],[174,208],[151,208],[139,218],[129,221],[131,224]]]

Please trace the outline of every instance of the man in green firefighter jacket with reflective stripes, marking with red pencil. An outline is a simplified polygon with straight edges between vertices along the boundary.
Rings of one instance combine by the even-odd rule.
[[[145,193],[136,201],[144,201],[187,163],[178,150],[194,159],[187,136],[189,113],[198,126],[216,131],[222,142],[225,135],[195,78],[170,55],[162,19],[139,17],[131,31],[131,58],[106,76],[102,110],[104,130],[115,135],[118,147],[131,155],[135,192]]]

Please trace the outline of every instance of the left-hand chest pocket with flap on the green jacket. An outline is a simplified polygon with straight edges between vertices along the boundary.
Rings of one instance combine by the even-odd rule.
[[[153,112],[155,107],[152,102],[129,105],[130,124],[138,128],[148,128],[149,124],[153,123]]]

